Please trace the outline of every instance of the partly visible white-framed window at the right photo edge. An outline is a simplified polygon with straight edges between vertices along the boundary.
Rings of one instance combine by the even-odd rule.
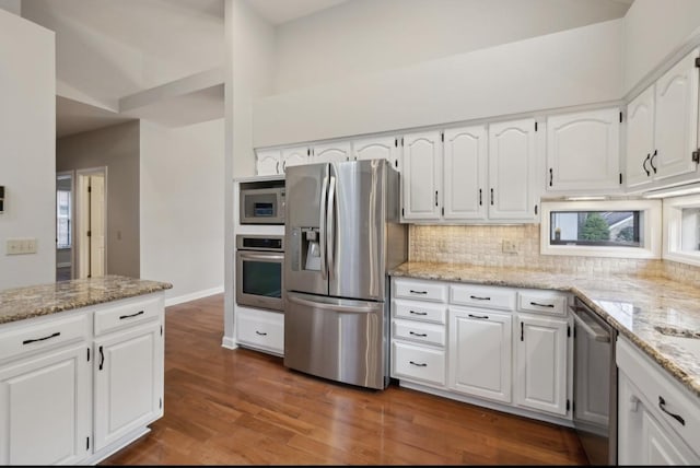
[[[664,258],[700,265],[700,195],[664,199]]]

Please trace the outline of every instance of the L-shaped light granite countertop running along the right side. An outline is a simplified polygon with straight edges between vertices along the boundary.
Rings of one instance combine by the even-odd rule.
[[[655,327],[700,338],[700,289],[658,277],[552,273],[523,268],[405,262],[392,277],[558,290],[581,299],[700,397],[700,359]],[[682,336],[682,335],[681,335]]]

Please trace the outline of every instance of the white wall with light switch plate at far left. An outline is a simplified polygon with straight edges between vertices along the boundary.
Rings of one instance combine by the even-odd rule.
[[[0,10],[0,290],[56,278],[55,70],[54,33]],[[15,237],[37,253],[7,256]]]

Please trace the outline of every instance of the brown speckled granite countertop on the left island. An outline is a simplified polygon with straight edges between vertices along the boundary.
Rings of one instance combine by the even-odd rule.
[[[173,288],[170,283],[106,276],[0,291],[0,325]]]

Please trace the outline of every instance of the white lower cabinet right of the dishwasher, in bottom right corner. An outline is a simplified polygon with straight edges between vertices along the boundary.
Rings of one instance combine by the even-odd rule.
[[[618,337],[618,463],[700,464],[700,405],[658,364]]]

